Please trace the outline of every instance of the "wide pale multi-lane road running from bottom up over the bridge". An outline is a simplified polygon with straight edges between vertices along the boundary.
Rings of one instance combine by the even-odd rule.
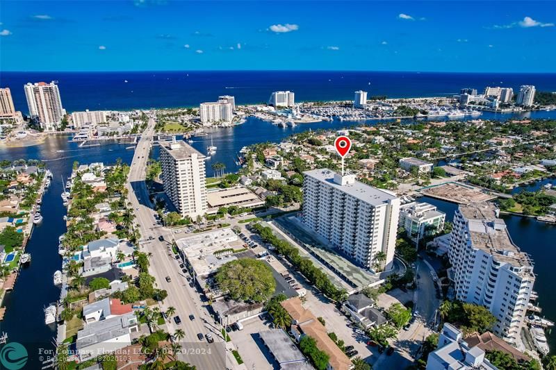
[[[129,191],[128,200],[135,210],[136,222],[142,236],[140,247],[143,252],[152,253],[149,274],[156,279],[156,287],[165,289],[168,293],[164,302],[160,303],[161,311],[173,306],[181,319],[180,325],[174,323],[173,319],[169,319],[170,322],[167,323],[167,331],[170,334],[178,328],[181,328],[186,334],[180,344],[183,352],[187,351],[189,354],[183,354],[181,360],[195,365],[199,370],[227,369],[230,367],[227,366],[227,359],[229,359],[229,364],[235,364],[235,362],[230,360],[231,354],[228,353],[226,345],[222,341],[220,327],[213,323],[213,319],[202,308],[199,294],[189,286],[186,275],[181,272],[179,262],[168,248],[174,236],[170,230],[156,224],[154,218],[156,212],[149,201],[145,173],[155,124],[155,120],[151,117],[133,155],[126,185]],[[164,237],[163,242],[158,240],[161,235]],[[149,237],[153,237],[153,239],[149,239]],[[170,283],[166,281],[167,276],[170,276]],[[190,314],[195,315],[193,321],[189,319]],[[215,343],[208,344],[206,339],[199,340],[197,333],[203,335],[212,333]]]

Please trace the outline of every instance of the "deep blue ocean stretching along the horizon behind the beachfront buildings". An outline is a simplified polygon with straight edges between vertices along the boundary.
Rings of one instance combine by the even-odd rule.
[[[390,98],[448,96],[463,87],[535,85],[556,91],[556,74],[477,74],[431,72],[0,72],[0,86],[10,87],[15,108],[27,111],[23,85],[58,81],[64,108],[129,110],[175,108],[236,96],[236,103],[263,103],[276,90],[295,92],[296,101],[353,99],[355,90]],[[126,82],[127,81],[127,82]]]

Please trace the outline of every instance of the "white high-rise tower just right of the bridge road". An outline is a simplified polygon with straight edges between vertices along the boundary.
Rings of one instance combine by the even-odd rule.
[[[161,142],[164,192],[182,217],[195,220],[207,210],[204,155],[183,141]]]

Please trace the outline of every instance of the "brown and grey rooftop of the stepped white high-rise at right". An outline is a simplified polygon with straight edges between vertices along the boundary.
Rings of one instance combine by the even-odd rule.
[[[497,261],[516,267],[532,267],[529,256],[510,239],[504,220],[496,217],[493,203],[460,205],[459,212],[468,219],[473,247],[493,255]]]

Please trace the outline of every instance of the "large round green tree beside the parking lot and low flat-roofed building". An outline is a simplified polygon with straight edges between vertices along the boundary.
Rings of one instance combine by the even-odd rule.
[[[222,292],[237,301],[263,302],[276,289],[267,264],[251,258],[227,262],[216,270],[215,282]]]

